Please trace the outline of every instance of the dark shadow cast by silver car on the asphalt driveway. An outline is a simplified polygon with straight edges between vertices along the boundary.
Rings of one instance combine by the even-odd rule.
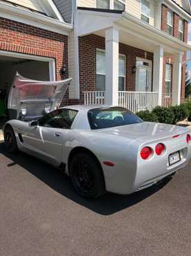
[[[12,156],[6,152],[4,143],[0,143],[0,154],[9,158],[12,163],[8,167],[19,165],[38,179],[46,183],[50,188],[57,191],[59,194],[66,196],[66,198],[83,205],[84,207],[97,212],[102,215],[110,215],[115,212],[119,212],[125,208],[129,208],[134,204],[137,204],[144,199],[147,199],[152,194],[163,188],[168,183],[162,183],[161,185],[154,185],[148,189],[136,192],[130,195],[118,195],[105,193],[101,198],[95,200],[83,199],[76,194],[70,185],[70,179],[68,176],[57,170],[56,168],[43,163],[42,161],[32,156],[19,153],[17,156]],[[11,169],[10,169],[11,170]]]

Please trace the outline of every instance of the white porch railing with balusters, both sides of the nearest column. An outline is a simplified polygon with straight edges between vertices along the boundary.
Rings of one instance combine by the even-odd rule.
[[[158,104],[157,92],[119,91],[119,106],[136,113],[141,110],[152,110]],[[84,104],[104,104],[105,91],[85,91]]]

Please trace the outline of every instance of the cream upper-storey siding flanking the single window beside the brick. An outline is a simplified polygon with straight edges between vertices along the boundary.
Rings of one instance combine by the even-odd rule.
[[[126,12],[130,13],[138,19],[141,18],[141,0],[128,0],[126,1]],[[150,0],[150,25],[154,26],[155,3]]]

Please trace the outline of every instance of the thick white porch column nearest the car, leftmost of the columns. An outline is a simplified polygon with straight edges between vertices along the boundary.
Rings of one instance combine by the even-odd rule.
[[[118,106],[119,30],[105,30],[105,104]]]

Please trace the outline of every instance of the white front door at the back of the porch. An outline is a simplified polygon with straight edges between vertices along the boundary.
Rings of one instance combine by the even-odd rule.
[[[136,91],[151,91],[151,71],[150,61],[137,60]]]

